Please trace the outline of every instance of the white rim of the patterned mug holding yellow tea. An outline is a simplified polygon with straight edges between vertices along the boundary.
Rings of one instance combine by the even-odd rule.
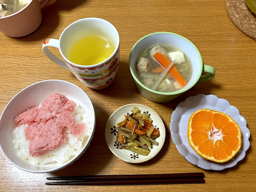
[[[118,34],[118,31],[117,31],[117,29],[115,28],[115,26],[114,26],[112,23],[110,23],[109,21],[105,20],[105,19],[101,19],[101,18],[97,18],[97,17],[87,17],[87,18],[79,19],[79,20],[77,20],[77,21],[71,23],[69,26],[67,26],[67,27],[62,31],[62,33],[61,33],[61,35],[60,35],[60,37],[59,37],[59,52],[61,53],[61,56],[63,57],[63,59],[64,59],[66,62],[68,62],[69,64],[73,65],[73,66],[81,67],[81,68],[97,67],[97,66],[100,66],[100,65],[102,65],[102,64],[104,64],[104,63],[110,61],[110,60],[112,59],[112,57],[117,53],[118,48],[119,48],[119,41],[120,41],[120,39],[119,39],[119,34],[118,34],[117,45],[116,45],[116,47],[115,47],[114,52],[113,52],[107,59],[105,59],[104,61],[102,61],[102,62],[100,62],[100,63],[97,63],[97,64],[94,64],[94,65],[78,65],[78,64],[75,64],[75,63],[69,61],[69,59],[67,59],[67,58],[64,56],[64,54],[62,53],[62,51],[61,51],[61,46],[60,46],[61,37],[62,37],[62,35],[65,33],[65,31],[66,31],[69,27],[71,27],[72,25],[74,25],[75,23],[78,23],[78,22],[80,22],[80,21],[85,21],[85,20],[101,20],[101,21],[107,22],[107,23],[109,23],[110,25],[112,25],[112,26],[114,27],[115,31],[116,31],[117,34]]]

